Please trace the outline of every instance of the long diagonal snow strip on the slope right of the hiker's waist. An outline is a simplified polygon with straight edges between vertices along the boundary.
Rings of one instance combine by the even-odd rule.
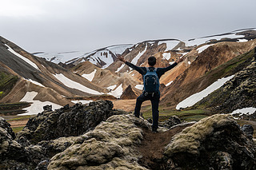
[[[232,77],[234,77],[234,75],[230,77],[223,77],[221,79],[218,79],[218,81],[215,81],[212,85],[208,86],[206,89],[203,89],[201,92],[194,93],[190,97],[187,97],[184,101],[181,101],[176,106],[176,109],[186,108],[196,104],[198,101],[201,101],[208,94],[220,88],[222,85],[226,83],[226,81],[229,81]]]

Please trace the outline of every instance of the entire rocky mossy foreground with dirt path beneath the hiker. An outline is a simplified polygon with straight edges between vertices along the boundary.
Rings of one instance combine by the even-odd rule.
[[[46,107],[16,137],[1,118],[1,169],[255,168],[253,131],[239,128],[231,116],[217,114],[152,133],[148,121],[112,106],[97,101],[56,111]]]

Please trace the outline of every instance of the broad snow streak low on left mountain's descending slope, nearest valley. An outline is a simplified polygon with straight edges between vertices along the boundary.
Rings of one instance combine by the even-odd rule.
[[[54,75],[54,74],[53,74]],[[79,89],[82,92],[90,93],[90,94],[102,94],[94,89],[90,89],[84,85],[81,85],[80,83],[76,81],[70,80],[68,77],[64,76],[62,73],[54,75],[58,79],[58,81],[61,81],[63,85],[66,85],[67,87],[70,87],[72,89]]]

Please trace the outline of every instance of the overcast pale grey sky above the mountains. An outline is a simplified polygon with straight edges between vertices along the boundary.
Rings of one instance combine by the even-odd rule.
[[[30,53],[256,27],[255,0],[0,0],[0,6],[0,36]]]

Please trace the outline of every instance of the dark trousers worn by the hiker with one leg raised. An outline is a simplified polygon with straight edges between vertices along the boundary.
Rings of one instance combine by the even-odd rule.
[[[153,97],[152,97],[152,94],[145,95],[145,93],[142,93],[142,95],[140,95],[137,98],[136,106],[135,106],[135,109],[134,109],[134,116],[139,117],[139,113],[140,113],[140,110],[141,110],[141,107],[142,107],[142,103],[144,101],[149,101],[149,100],[151,101],[152,117],[153,117],[152,128],[153,129],[158,128],[158,117],[159,117],[158,104],[159,104],[159,99],[160,99],[160,93],[154,93]]]

